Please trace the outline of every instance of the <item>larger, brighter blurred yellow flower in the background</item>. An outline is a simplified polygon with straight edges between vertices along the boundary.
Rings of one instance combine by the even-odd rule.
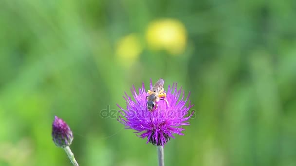
[[[153,21],[146,32],[148,45],[154,50],[167,50],[177,55],[185,50],[187,32],[185,26],[176,19]]]

